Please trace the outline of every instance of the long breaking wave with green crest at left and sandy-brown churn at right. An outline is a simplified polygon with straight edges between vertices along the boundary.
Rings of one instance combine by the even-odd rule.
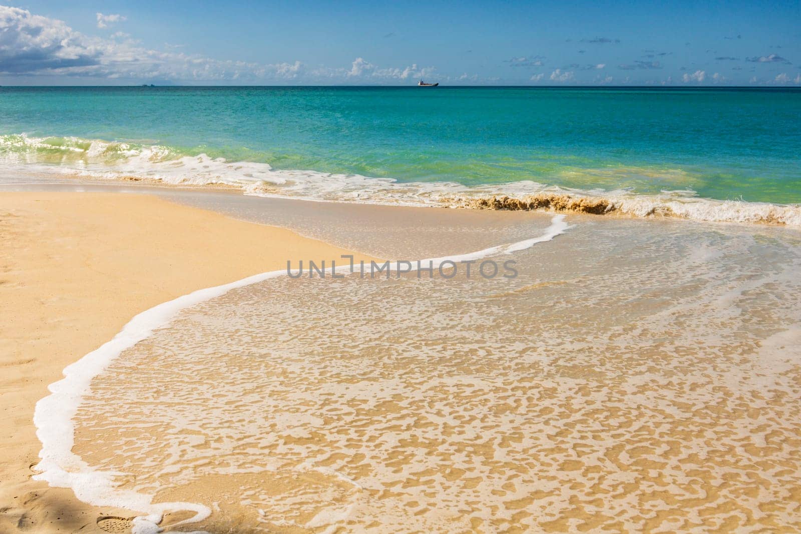
[[[0,162],[20,173],[239,189],[246,195],[323,202],[674,217],[801,227],[801,205],[714,200],[694,191],[576,190],[523,180],[465,186],[273,169],[268,163],[188,155],[174,147],[76,137],[0,135]],[[588,171],[590,172],[590,171]],[[671,171],[677,172],[677,171]]]

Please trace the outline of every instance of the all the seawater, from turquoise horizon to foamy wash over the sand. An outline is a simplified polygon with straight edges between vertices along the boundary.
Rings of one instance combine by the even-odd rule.
[[[3,88],[0,111],[4,191],[459,267],[254,273],[75,355],[36,478],[126,528],[799,529],[801,92]],[[443,209],[494,195],[610,216]]]

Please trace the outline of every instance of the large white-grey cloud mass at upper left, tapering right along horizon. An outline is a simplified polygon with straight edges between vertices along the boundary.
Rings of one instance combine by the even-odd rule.
[[[103,15],[98,22],[112,22]],[[123,20],[122,17],[114,20]],[[64,22],[31,14],[28,10],[0,6],[0,74],[62,76],[119,80],[171,80],[175,82],[372,82],[407,80],[433,74],[432,67],[378,68],[356,58],[350,69],[320,66],[308,70],[304,63],[272,64],[220,61],[179,51],[180,45],[164,45],[167,51],[147,49],[128,34],[110,38],[81,34]]]

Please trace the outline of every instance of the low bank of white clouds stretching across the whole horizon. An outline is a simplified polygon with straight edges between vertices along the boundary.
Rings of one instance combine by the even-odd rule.
[[[432,54],[421,54],[417,62],[392,66],[373,62],[371,50],[364,50],[339,65],[324,65],[299,58],[210,58],[191,53],[188,45],[147,46],[123,31],[134,21],[135,14],[96,12],[90,27],[99,34],[89,34],[58,18],[0,6],[0,80],[14,85],[405,85],[420,78],[453,85],[801,85],[796,46],[801,32],[786,46],[758,43],[760,49],[751,54],[741,53],[742,34],[723,36],[715,49],[691,54],[690,42],[681,50],[664,50],[634,39],[624,46],[623,36],[590,35],[549,46],[532,43],[536,54],[511,58],[493,57],[493,50],[462,50],[458,61],[445,64],[429,65]],[[396,50],[403,46],[396,43],[399,35],[390,31],[381,37]],[[382,47],[374,52],[387,55]],[[265,51],[264,57],[269,55]]]

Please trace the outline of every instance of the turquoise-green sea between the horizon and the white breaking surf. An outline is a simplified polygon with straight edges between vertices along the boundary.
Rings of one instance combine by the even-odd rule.
[[[0,135],[5,161],[47,165],[158,145],[148,162],[801,203],[799,90],[4,87]]]

